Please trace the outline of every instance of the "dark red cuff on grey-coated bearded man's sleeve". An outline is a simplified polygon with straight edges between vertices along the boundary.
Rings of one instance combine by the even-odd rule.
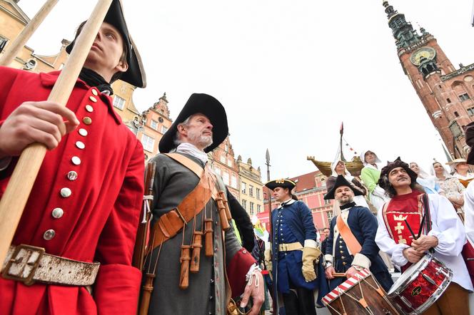
[[[227,266],[227,277],[229,284],[231,284],[233,297],[243,294],[246,287],[246,274],[255,263],[255,259],[245,248],[241,248],[233,255]]]

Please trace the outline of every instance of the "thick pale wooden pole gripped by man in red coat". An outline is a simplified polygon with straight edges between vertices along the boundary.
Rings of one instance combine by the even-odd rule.
[[[66,105],[111,3],[112,0],[99,0],[97,2],[94,11],[76,40],[69,60],[49,94],[49,101]],[[44,155],[46,155],[44,145],[33,143],[26,147],[21,153],[9,180],[9,185],[6,187],[3,197],[1,197],[0,263],[5,260],[6,252],[14,237]]]

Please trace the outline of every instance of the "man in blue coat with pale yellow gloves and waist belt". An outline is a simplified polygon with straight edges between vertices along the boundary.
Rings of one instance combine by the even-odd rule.
[[[291,180],[266,183],[281,202],[271,212],[273,279],[286,314],[316,314],[313,290],[319,279],[314,264],[321,255],[321,244],[316,241],[311,210],[291,193],[295,186]]]

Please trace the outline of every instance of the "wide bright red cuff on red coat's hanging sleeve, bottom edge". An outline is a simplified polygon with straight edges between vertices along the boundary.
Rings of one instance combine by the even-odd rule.
[[[138,308],[141,272],[123,264],[106,264],[99,269],[94,287],[98,314],[135,315]]]

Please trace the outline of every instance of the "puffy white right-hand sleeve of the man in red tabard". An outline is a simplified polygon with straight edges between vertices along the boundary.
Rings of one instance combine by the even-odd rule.
[[[448,198],[430,194],[430,215],[433,226],[428,235],[438,238],[435,251],[445,256],[458,256],[465,244],[465,229]]]

